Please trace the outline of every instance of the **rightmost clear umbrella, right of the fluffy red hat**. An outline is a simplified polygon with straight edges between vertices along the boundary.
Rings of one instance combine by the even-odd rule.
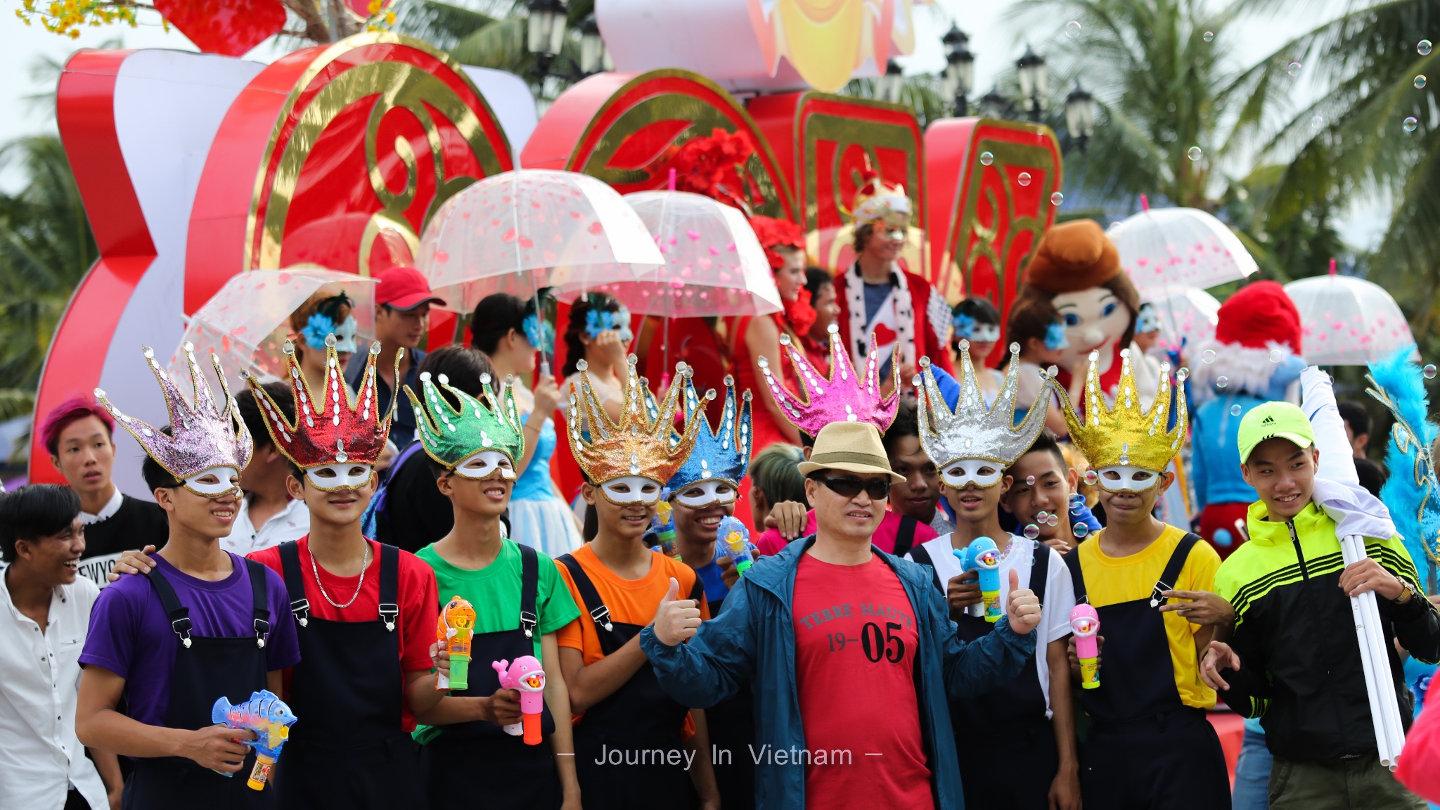
[[[1400,306],[1381,285],[1338,275],[1300,278],[1284,285],[1300,310],[1305,359],[1320,366],[1364,366],[1416,342]]]

